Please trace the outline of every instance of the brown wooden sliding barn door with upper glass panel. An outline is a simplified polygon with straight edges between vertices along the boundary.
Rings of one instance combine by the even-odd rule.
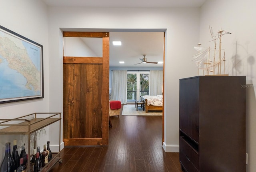
[[[108,145],[109,32],[63,32],[63,37],[79,37],[82,41],[84,38],[102,39],[101,57],[64,54],[65,146]],[[68,46],[78,47],[76,44]],[[95,48],[90,46],[86,45],[90,50]]]

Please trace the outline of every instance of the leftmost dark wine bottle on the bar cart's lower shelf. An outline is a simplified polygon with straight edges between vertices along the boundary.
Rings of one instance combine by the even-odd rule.
[[[14,160],[11,156],[11,143],[7,142],[5,144],[5,155],[1,164],[0,172],[14,172]]]

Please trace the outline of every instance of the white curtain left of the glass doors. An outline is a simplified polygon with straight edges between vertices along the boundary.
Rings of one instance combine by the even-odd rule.
[[[121,104],[126,104],[127,99],[127,70],[112,71],[111,99],[120,100]]]

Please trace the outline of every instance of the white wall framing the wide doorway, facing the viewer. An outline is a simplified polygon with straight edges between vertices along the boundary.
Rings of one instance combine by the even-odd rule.
[[[199,8],[50,7],[48,12],[50,110],[62,109],[63,106],[63,43],[60,28],[79,28],[80,31],[135,29],[134,31],[143,32],[143,29],[147,28],[166,30],[164,149],[167,152],[178,152],[179,79],[197,74],[190,60],[194,53],[192,45],[197,43],[199,38]]]

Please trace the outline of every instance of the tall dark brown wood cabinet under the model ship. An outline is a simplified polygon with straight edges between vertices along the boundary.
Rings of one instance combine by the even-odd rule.
[[[245,172],[245,76],[180,79],[180,163],[187,172]]]

